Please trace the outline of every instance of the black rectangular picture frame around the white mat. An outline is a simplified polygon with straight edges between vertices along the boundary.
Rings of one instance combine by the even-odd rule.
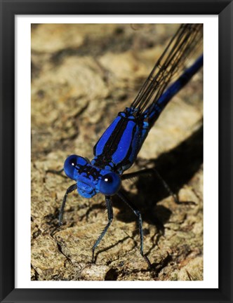
[[[15,15],[185,14],[219,18],[219,268],[218,289],[15,288]],[[233,4],[229,0],[1,0],[1,302],[233,302],[232,83]],[[213,62],[214,64],[214,62]],[[211,100],[210,100],[211,102]],[[213,134],[214,135],[214,134]],[[213,163],[215,165],[215,163]],[[214,222],[213,222],[214,224]]]

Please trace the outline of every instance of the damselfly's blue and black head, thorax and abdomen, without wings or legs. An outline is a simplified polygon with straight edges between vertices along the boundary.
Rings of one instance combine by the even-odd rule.
[[[117,176],[121,176],[133,165],[149,129],[159,118],[164,107],[202,65],[203,55],[142,114],[138,114],[138,109],[131,107],[126,107],[124,112],[119,112],[95,144],[93,149],[95,157],[91,163],[81,156],[72,155],[67,158],[64,166],[65,173],[77,182],[77,191],[81,196],[91,198],[98,193],[109,196],[116,194],[121,184]],[[70,170],[72,174],[69,173]],[[106,176],[110,177],[110,175],[112,175],[112,182],[106,192],[105,179],[107,180]]]

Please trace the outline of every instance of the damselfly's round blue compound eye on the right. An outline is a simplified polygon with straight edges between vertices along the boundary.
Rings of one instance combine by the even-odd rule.
[[[100,180],[100,192],[106,196],[112,196],[119,191],[121,178],[116,173],[108,173]]]

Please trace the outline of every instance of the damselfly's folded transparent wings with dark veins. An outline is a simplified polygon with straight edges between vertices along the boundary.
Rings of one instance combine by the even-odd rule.
[[[157,102],[171,79],[182,73],[187,58],[197,53],[203,37],[202,24],[180,25],[147,80],[131,104],[141,114],[147,105]]]

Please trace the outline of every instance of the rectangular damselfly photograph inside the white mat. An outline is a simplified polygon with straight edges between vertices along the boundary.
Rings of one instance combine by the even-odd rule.
[[[31,281],[204,280],[203,58],[201,23],[31,25]]]

